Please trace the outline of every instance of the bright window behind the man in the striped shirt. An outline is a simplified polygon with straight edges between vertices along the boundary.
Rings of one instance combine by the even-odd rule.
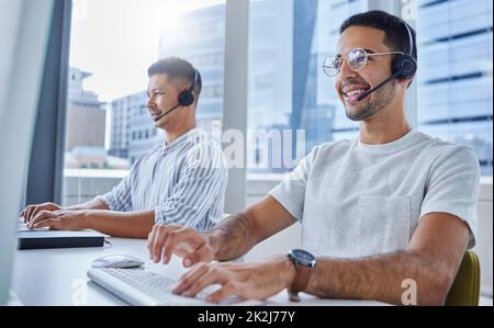
[[[198,125],[223,113],[225,0],[74,0],[63,204],[102,194],[165,134],[147,112],[147,68],[179,56],[211,90]],[[220,87],[217,87],[220,86]]]

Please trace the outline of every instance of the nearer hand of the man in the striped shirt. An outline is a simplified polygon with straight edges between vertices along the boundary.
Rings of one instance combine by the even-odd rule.
[[[31,229],[49,227],[55,230],[87,229],[87,211],[58,210],[41,211],[27,223]]]

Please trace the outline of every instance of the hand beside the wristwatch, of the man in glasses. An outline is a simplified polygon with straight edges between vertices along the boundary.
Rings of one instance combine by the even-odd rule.
[[[206,301],[220,302],[231,295],[266,299],[290,286],[294,278],[295,267],[287,256],[251,264],[199,263],[180,279],[172,292],[194,297],[206,286],[220,284],[221,289]]]

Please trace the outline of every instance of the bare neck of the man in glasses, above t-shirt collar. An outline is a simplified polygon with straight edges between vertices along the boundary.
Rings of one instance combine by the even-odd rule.
[[[404,108],[384,109],[360,123],[360,142],[368,145],[389,144],[404,137],[411,131]]]

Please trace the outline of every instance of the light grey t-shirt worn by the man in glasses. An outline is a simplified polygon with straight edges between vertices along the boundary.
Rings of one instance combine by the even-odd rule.
[[[385,145],[315,147],[270,194],[302,223],[304,249],[356,258],[404,250],[433,212],[464,220],[473,247],[479,180],[471,148],[412,131]]]

